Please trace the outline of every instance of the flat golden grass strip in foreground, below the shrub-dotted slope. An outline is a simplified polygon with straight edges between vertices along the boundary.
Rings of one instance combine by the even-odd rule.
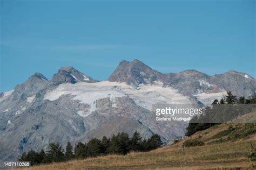
[[[29,169],[200,169],[200,168],[250,168],[248,159],[250,141],[205,145],[185,148],[179,144],[151,152],[107,155],[105,157],[72,160],[30,167]],[[256,145],[256,141],[253,141]]]

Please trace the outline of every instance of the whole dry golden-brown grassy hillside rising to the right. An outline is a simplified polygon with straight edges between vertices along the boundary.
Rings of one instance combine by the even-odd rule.
[[[184,147],[183,151],[187,140],[199,140],[204,145]],[[255,162],[248,158],[251,144],[256,146],[256,124],[220,124],[151,152],[108,155],[29,169],[253,169]]]

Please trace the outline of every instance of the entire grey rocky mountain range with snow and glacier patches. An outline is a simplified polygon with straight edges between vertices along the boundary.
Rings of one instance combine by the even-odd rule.
[[[255,96],[256,80],[236,71],[207,75],[197,70],[163,74],[139,60],[122,61],[109,79],[97,81],[73,67],[48,80],[35,73],[14,90],[0,93],[0,160],[118,132],[159,134],[165,142],[184,137],[186,122],[157,122],[152,104],[208,105],[226,91]]]

